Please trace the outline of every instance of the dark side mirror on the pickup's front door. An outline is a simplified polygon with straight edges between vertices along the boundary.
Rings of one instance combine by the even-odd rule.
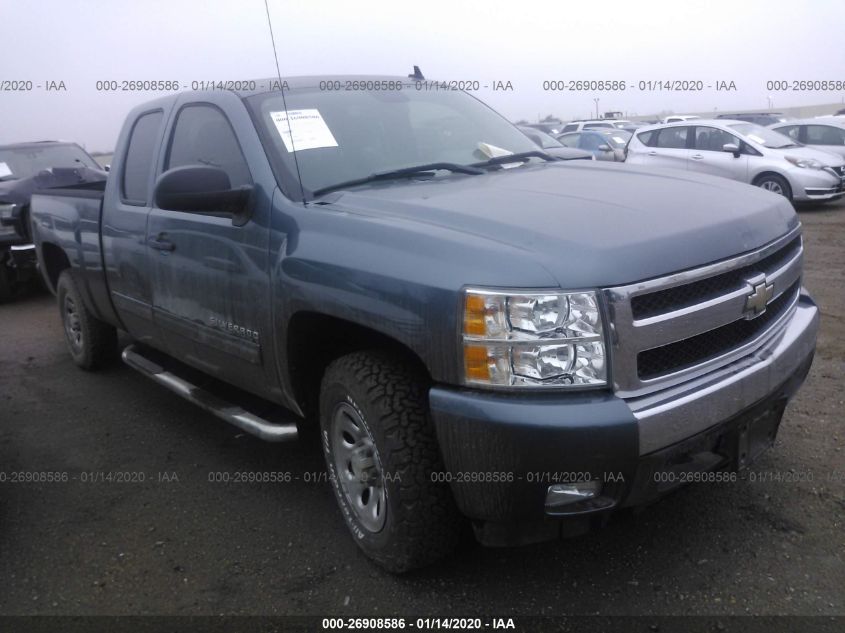
[[[231,216],[241,226],[249,219],[252,187],[231,187],[229,174],[219,167],[186,165],[159,176],[153,195],[160,209]]]

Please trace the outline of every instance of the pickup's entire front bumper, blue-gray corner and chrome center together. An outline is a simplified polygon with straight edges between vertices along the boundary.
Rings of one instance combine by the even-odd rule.
[[[595,514],[606,514],[648,503],[683,479],[655,472],[742,467],[774,440],[809,371],[818,322],[802,293],[790,319],[754,353],[637,399],[435,387],[429,399],[446,467],[441,479],[483,541],[515,544],[557,535],[559,522],[545,509],[550,485],[601,480]]]

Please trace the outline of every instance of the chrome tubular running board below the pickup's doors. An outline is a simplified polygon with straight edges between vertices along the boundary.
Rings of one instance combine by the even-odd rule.
[[[270,422],[250,413],[243,407],[223,400],[202,387],[177,376],[172,371],[168,371],[148,355],[145,355],[144,351],[136,345],[129,345],[123,350],[121,357],[123,362],[132,369],[152,378],[176,395],[182,396],[185,400],[193,402],[221,420],[234,424],[251,435],[267,442],[290,442],[297,438],[295,421]],[[155,352],[152,352],[152,354],[158,356]]]

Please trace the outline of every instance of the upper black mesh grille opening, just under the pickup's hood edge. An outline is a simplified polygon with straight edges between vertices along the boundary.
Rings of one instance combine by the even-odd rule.
[[[683,286],[675,286],[633,297],[631,299],[631,313],[635,319],[645,319],[715,299],[742,288],[746,285],[746,280],[749,277],[759,273],[772,273],[792,259],[800,250],[801,237],[798,236],[785,244],[783,248],[748,266]]]

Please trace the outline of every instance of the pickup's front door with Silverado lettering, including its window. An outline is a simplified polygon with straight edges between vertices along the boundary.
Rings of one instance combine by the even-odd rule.
[[[168,138],[162,173],[211,165],[228,174],[232,188],[252,184],[220,107],[183,105]],[[154,201],[147,224],[153,319],[166,351],[254,393],[267,382],[261,344],[270,328],[268,244],[260,209],[237,226],[222,213],[172,211]]]

